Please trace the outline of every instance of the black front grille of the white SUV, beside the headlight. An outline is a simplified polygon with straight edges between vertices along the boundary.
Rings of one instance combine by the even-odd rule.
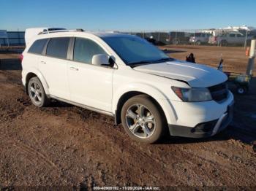
[[[227,98],[227,82],[208,87],[214,101],[221,102]]]

